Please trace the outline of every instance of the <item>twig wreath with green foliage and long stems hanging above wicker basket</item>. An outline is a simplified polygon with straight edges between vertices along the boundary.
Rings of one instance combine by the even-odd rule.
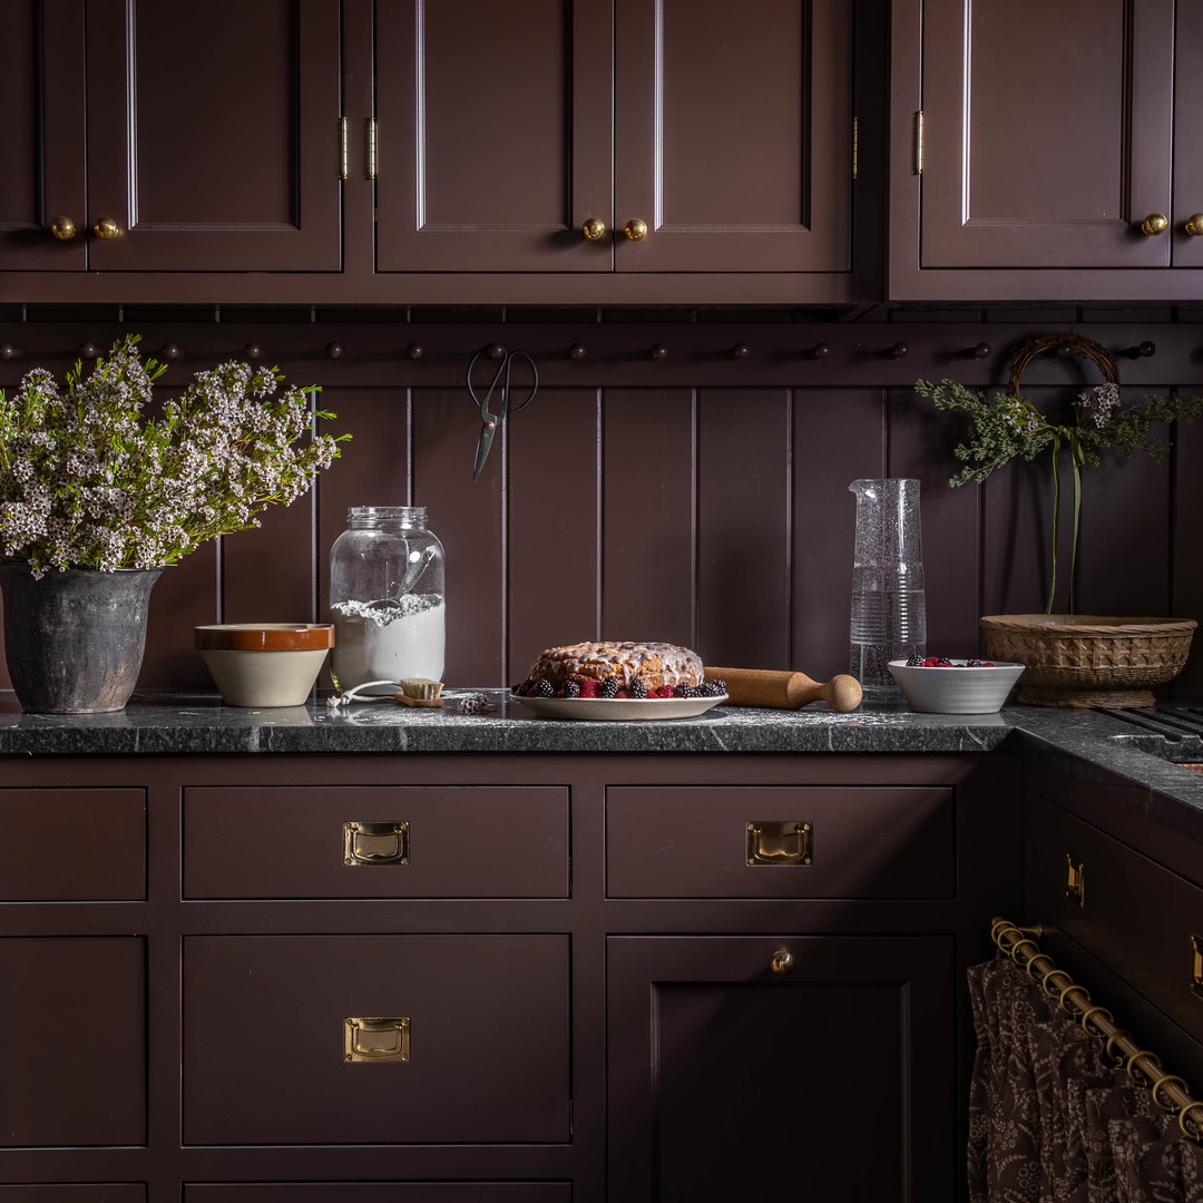
[[[1032,360],[1049,351],[1079,354],[1102,373],[1103,383],[1081,389],[1074,397],[1068,421],[1054,421],[1020,392],[1024,372]],[[1035,460],[1044,451],[1053,457],[1053,561],[1045,614],[1053,612],[1057,588],[1057,532],[1061,517],[1062,449],[1068,450],[1073,470],[1073,538],[1069,549],[1069,614],[1074,614],[1074,567],[1081,517],[1081,469],[1097,467],[1103,451],[1132,455],[1144,451],[1155,461],[1165,457],[1169,443],[1152,437],[1158,422],[1191,422],[1203,414],[1203,397],[1145,397],[1133,405],[1120,404],[1120,374],[1115,361],[1094,339],[1081,334],[1054,333],[1032,338],[1012,356],[1006,392],[992,398],[955,380],[917,380],[914,390],[937,409],[959,410],[968,417],[968,438],[953,454],[965,467],[949,485],[983,484],[996,468],[1017,456]]]

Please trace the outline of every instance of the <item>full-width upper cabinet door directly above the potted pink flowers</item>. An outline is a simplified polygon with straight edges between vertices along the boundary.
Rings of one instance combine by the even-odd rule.
[[[90,271],[337,271],[338,5],[91,0]]]

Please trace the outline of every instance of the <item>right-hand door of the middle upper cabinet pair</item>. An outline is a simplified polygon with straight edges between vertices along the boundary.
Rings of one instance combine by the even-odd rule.
[[[851,8],[618,0],[620,271],[848,269]]]

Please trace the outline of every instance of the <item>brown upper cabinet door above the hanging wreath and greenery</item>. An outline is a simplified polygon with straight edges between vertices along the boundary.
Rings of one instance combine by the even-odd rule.
[[[1173,54],[1173,0],[923,0],[921,266],[1168,266]]]

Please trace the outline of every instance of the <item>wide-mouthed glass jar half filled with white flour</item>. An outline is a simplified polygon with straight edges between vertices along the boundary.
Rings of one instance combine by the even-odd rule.
[[[443,544],[423,505],[355,505],[330,550],[331,677],[343,692],[368,681],[443,680]],[[387,694],[387,686],[366,693]]]

